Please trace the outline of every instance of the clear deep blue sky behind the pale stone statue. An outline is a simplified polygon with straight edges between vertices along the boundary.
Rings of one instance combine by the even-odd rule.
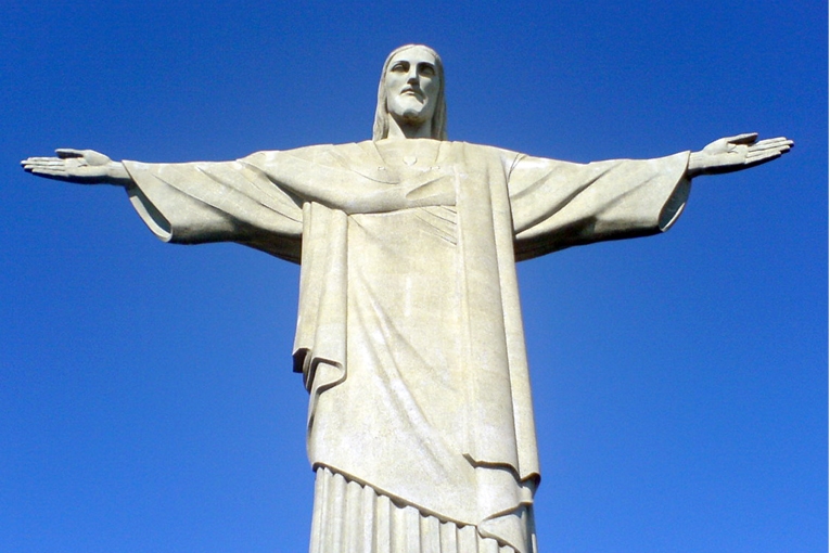
[[[521,266],[536,514],[542,552],[826,550],[825,2],[30,3],[0,18],[0,551],[306,549],[297,268],[17,162],[365,140],[407,42],[444,57],[454,140],[796,141],[697,180],[667,234]]]

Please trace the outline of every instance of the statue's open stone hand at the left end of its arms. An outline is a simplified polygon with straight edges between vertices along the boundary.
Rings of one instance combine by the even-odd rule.
[[[29,157],[21,162],[23,169],[47,179],[78,184],[115,184],[128,188],[135,182],[124,164],[94,150],[55,150],[58,157]]]

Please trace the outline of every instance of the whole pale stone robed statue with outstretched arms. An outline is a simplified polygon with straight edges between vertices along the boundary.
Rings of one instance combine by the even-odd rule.
[[[531,553],[539,468],[515,262],[665,231],[693,177],[792,145],[755,139],[587,165],[449,142],[442,61],[405,46],[384,64],[371,141],[226,163],[59,150],[23,166],[123,185],[165,242],[301,263],[312,552]]]

